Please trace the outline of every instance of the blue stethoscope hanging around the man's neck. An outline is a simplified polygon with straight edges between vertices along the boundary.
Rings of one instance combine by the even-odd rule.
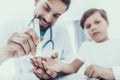
[[[29,24],[28,24],[28,27],[30,27],[30,25],[31,25],[31,23],[34,21],[34,19],[35,19],[36,17],[34,17],[30,22],[29,22]],[[53,33],[52,33],[52,28],[51,27],[49,27],[50,28],[50,39],[48,40],[48,41],[46,41],[45,42],[45,44],[42,46],[42,49],[44,49],[49,43],[51,43],[52,44],[52,50],[54,50],[54,41],[53,41]],[[40,35],[41,35],[41,33],[40,33]]]

